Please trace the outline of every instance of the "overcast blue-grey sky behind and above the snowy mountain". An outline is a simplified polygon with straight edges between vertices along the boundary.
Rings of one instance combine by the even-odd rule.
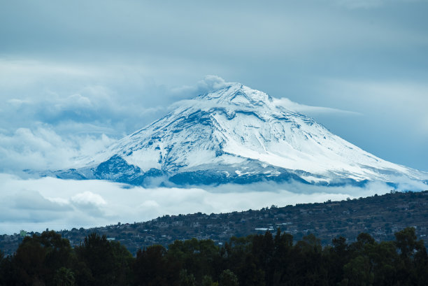
[[[46,180],[22,170],[60,169],[229,82],[293,101],[373,155],[428,171],[426,0],[0,5],[0,192],[11,201],[11,190],[49,201],[31,189]]]

